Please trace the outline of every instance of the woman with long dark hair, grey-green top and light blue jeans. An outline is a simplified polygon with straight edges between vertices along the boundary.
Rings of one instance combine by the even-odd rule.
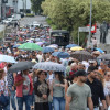
[[[55,72],[52,82],[54,110],[65,110],[65,79],[62,72]]]

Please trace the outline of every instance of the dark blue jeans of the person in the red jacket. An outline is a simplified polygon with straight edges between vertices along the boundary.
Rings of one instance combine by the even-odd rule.
[[[23,102],[25,102],[25,110],[31,110],[30,108],[30,95],[25,95],[23,97],[16,97],[18,99],[18,110],[23,110]]]

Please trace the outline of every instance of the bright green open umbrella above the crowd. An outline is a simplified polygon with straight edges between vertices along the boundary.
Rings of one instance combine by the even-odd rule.
[[[18,48],[25,51],[42,51],[42,47],[35,43],[24,43],[20,45]]]

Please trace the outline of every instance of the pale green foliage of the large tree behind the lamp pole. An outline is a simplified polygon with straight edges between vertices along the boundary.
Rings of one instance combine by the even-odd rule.
[[[90,0],[45,0],[42,2],[43,13],[57,29],[67,29],[77,42],[78,28],[89,24]],[[110,22],[110,0],[92,0],[92,24]],[[81,33],[80,44],[88,33]]]

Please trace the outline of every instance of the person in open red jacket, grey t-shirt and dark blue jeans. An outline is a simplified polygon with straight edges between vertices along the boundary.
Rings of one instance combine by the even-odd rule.
[[[31,110],[30,95],[33,92],[33,82],[29,69],[22,70],[15,76],[14,85],[16,86],[19,110],[23,110],[23,102],[25,102],[25,110]]]

